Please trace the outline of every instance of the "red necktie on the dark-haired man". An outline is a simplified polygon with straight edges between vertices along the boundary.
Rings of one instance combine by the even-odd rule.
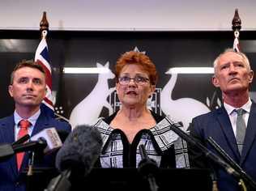
[[[22,138],[24,135],[28,134],[28,127],[30,125],[31,124],[28,120],[19,121],[20,129],[19,129],[18,139]],[[24,154],[25,154],[24,152],[19,152],[19,153],[16,154],[18,171],[19,171],[19,168],[21,166]]]

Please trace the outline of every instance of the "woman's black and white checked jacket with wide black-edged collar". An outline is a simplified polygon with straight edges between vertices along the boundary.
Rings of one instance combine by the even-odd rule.
[[[169,128],[169,121],[173,122],[170,117],[160,117],[151,112],[157,124],[151,129],[140,130],[130,144],[121,129],[113,129],[109,125],[116,114],[106,119],[100,118],[94,125],[103,139],[103,148],[96,167],[137,168],[141,160],[140,144],[145,146],[149,158],[154,159],[160,168],[190,167],[186,142]]]

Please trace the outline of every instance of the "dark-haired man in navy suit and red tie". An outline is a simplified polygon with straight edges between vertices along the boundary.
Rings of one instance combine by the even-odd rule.
[[[20,135],[32,136],[50,127],[70,133],[71,127],[68,123],[57,121],[41,112],[40,105],[45,98],[46,85],[45,70],[40,65],[34,62],[20,62],[11,74],[8,90],[15,100],[15,112],[10,117],[0,119],[0,144],[15,142]],[[28,124],[26,127],[22,125],[23,120]],[[41,156],[41,159],[35,160],[35,167],[54,167],[55,154]],[[28,152],[1,162],[0,190],[26,190],[26,179],[22,173],[26,168]]]

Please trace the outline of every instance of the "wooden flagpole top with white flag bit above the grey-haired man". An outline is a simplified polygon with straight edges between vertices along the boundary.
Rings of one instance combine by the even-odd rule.
[[[234,43],[233,43],[233,49],[237,52],[241,51],[240,45],[239,45],[239,35],[241,30],[241,19],[238,14],[238,9],[235,10],[235,15],[232,20],[232,29],[234,32]]]

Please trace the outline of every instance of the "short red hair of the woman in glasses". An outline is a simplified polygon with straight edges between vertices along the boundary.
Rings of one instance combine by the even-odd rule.
[[[141,66],[143,70],[148,73],[151,85],[156,85],[158,80],[156,66],[151,62],[151,59],[147,57],[147,55],[135,51],[123,53],[121,57],[117,59],[117,64],[115,66],[116,80],[118,80],[123,67],[129,64]]]

